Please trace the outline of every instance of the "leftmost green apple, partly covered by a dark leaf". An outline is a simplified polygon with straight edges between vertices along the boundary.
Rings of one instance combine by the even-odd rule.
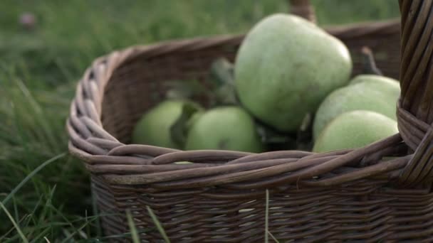
[[[185,104],[189,104],[196,112],[202,112],[199,104],[189,100],[168,99],[160,102],[137,122],[132,132],[132,143],[181,149],[183,145],[174,141],[171,128],[182,115]]]

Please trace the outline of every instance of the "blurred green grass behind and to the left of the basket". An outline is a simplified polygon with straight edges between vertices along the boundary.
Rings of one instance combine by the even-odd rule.
[[[312,2],[320,25],[399,16],[395,0]],[[0,242],[107,239],[98,234],[85,168],[56,157],[67,152],[69,102],[93,59],[129,45],[245,33],[264,16],[287,12],[286,3],[0,1],[7,10],[0,15]],[[25,11],[38,19],[34,31],[17,23]]]

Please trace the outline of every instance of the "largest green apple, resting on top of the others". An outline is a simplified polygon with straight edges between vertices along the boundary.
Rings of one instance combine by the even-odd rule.
[[[303,18],[276,13],[256,24],[235,60],[235,87],[255,117],[279,131],[296,131],[352,72],[348,48]]]

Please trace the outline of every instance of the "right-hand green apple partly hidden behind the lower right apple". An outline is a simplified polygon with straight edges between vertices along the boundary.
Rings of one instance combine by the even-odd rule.
[[[313,123],[313,138],[317,139],[323,128],[339,114],[357,109],[370,110],[396,118],[396,102],[400,95],[400,83],[378,75],[358,75],[350,85],[333,91],[326,97]]]

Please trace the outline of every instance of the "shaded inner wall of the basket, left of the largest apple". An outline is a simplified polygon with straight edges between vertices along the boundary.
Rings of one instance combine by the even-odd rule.
[[[199,50],[165,51],[150,56],[143,53],[123,63],[113,72],[104,90],[104,129],[128,144],[137,120],[147,109],[165,99],[171,82],[198,80],[204,87],[209,87],[207,80],[212,63],[216,58],[233,62],[241,38],[236,40],[231,41],[231,45]],[[192,99],[209,107],[209,97],[204,93],[196,94]]]

